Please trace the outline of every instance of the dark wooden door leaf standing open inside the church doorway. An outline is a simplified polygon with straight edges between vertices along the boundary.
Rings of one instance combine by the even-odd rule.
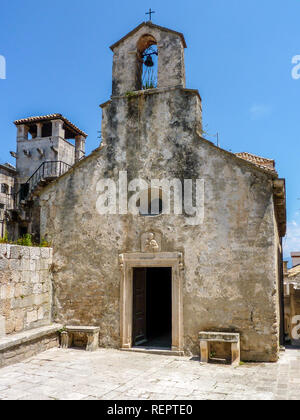
[[[146,268],[133,269],[133,337],[134,346],[147,341]]]

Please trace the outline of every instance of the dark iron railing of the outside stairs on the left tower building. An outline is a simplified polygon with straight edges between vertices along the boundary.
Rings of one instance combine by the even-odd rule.
[[[71,167],[71,165],[62,161],[43,162],[17,192],[15,198],[16,205],[18,206],[22,200],[26,200],[30,193],[36,189],[41,181],[49,181],[58,178],[68,172]]]

